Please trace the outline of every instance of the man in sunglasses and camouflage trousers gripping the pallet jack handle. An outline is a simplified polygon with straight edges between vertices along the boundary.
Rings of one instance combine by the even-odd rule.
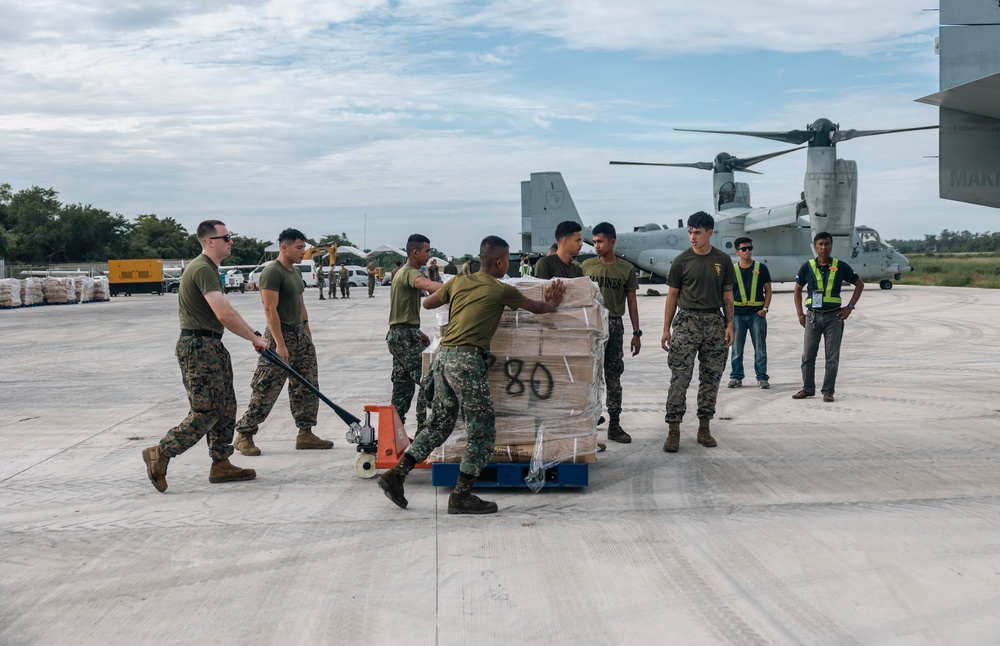
[[[233,454],[236,426],[236,393],[233,364],[222,333],[229,330],[253,344],[258,352],[267,341],[254,334],[239,312],[225,297],[219,280],[219,263],[232,253],[233,237],[219,220],[198,225],[201,255],[181,274],[177,289],[181,335],[174,351],[187,390],[191,410],[184,420],[167,431],[159,444],[142,450],[146,475],[159,492],[167,490],[167,464],[208,435],[212,468],[208,481],[253,480],[253,469],[241,469],[229,462]]]

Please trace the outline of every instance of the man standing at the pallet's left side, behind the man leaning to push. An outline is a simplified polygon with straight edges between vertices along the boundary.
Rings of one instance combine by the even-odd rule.
[[[420,272],[430,248],[430,240],[419,233],[406,241],[406,264],[394,270],[389,288],[389,332],[385,335],[392,355],[392,405],[399,419],[405,422],[413,393],[417,393],[418,434],[427,421],[427,401],[420,385],[421,355],[430,344],[427,335],[420,331],[420,298],[423,291],[434,293],[441,288],[441,283],[425,278]]]

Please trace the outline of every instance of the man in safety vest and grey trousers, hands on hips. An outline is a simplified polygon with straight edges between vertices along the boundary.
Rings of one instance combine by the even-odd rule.
[[[851,266],[830,256],[833,250],[833,236],[825,231],[813,238],[816,258],[802,265],[795,278],[795,310],[799,325],[805,328],[802,344],[802,390],[792,395],[792,399],[805,399],[816,394],[816,355],[819,353],[820,337],[824,341],[826,371],[823,375],[823,401],[832,402],[837,383],[837,369],[840,367],[840,342],[844,338],[844,322],[854,311],[865,283]],[[851,302],[842,305],[840,286],[854,285]],[[807,288],[807,315],[802,311],[802,288]]]

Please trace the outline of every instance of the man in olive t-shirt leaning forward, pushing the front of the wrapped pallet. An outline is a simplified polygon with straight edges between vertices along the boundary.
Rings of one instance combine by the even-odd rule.
[[[416,437],[399,463],[379,477],[379,486],[396,505],[406,508],[403,481],[418,462],[427,459],[451,435],[459,411],[468,432],[467,448],[459,466],[455,491],[448,499],[449,514],[490,514],[497,505],[472,494],[472,486],[489,461],[496,441],[496,419],[487,378],[486,355],[505,307],[523,307],[529,312],[554,311],[562,302],[559,281],[546,287],[546,300],[525,298],[512,285],[497,280],[507,273],[510,247],[496,236],[480,245],[481,269],[451,279],[424,300],[432,309],[450,306],[448,331],[431,365],[433,388],[431,417],[426,431]]]

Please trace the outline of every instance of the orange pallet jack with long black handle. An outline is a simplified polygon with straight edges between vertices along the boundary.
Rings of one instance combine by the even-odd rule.
[[[361,420],[330,401],[319,388],[312,385],[308,379],[299,374],[286,363],[278,353],[267,348],[260,351],[261,356],[278,366],[296,381],[305,386],[306,390],[316,395],[327,406],[333,409],[337,417],[344,420],[347,429],[347,442],[358,445],[358,457],[354,461],[354,471],[362,478],[373,478],[379,469],[391,469],[399,462],[400,456],[410,445],[410,438],[403,427],[396,407],[392,404],[368,404],[365,406],[364,424]],[[371,414],[378,415],[378,432],[371,424]],[[429,462],[421,462],[417,469],[429,469]]]

